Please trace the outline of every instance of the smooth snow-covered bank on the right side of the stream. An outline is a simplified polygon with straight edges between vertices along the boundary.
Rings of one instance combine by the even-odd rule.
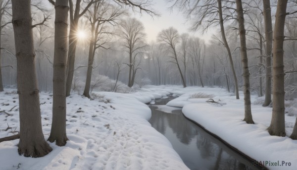
[[[288,116],[289,113],[285,115],[288,136],[270,136],[266,129],[270,125],[272,108],[261,106],[263,97],[251,96],[255,124],[247,124],[242,121],[243,93],[240,93],[240,100],[236,100],[235,96],[230,96],[230,93],[219,88],[198,88],[196,91],[190,89],[179,90],[179,94],[183,95],[170,101],[167,106],[183,107],[186,117],[253,158],[258,164],[271,170],[297,170],[297,140],[288,137],[293,131],[296,116]],[[223,105],[206,103],[209,98],[190,99],[191,95],[198,92],[212,95],[214,101]],[[290,107],[290,102],[286,103]]]

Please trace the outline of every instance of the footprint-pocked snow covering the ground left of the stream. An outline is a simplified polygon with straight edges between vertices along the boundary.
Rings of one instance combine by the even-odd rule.
[[[5,91],[0,93],[0,111],[12,115],[0,113],[0,138],[19,131],[18,95]],[[26,158],[17,153],[19,139],[1,142],[0,170],[187,170],[170,142],[148,122],[151,111],[145,103],[168,94],[149,89],[132,94],[95,92],[95,100],[72,94],[67,98],[67,144],[49,143],[53,150],[45,157]],[[40,103],[47,140],[51,94],[41,93]],[[4,131],[6,123],[12,129]]]

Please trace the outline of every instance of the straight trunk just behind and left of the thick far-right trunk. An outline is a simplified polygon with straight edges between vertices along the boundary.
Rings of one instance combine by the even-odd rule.
[[[263,15],[265,24],[265,41],[266,41],[266,87],[265,101],[263,106],[269,106],[271,103],[271,52],[272,52],[272,21],[270,0],[263,0]]]

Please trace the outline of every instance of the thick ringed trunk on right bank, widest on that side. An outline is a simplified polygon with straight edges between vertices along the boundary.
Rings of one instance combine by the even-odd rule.
[[[273,34],[273,101],[270,135],[286,136],[285,131],[285,87],[284,87],[284,30],[288,0],[278,0]]]

